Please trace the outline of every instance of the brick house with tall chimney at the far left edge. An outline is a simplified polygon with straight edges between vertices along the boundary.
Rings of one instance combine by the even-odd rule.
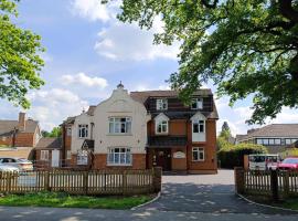
[[[32,148],[41,138],[39,122],[26,118],[25,113],[19,113],[19,120],[0,119],[0,156],[33,158]]]

